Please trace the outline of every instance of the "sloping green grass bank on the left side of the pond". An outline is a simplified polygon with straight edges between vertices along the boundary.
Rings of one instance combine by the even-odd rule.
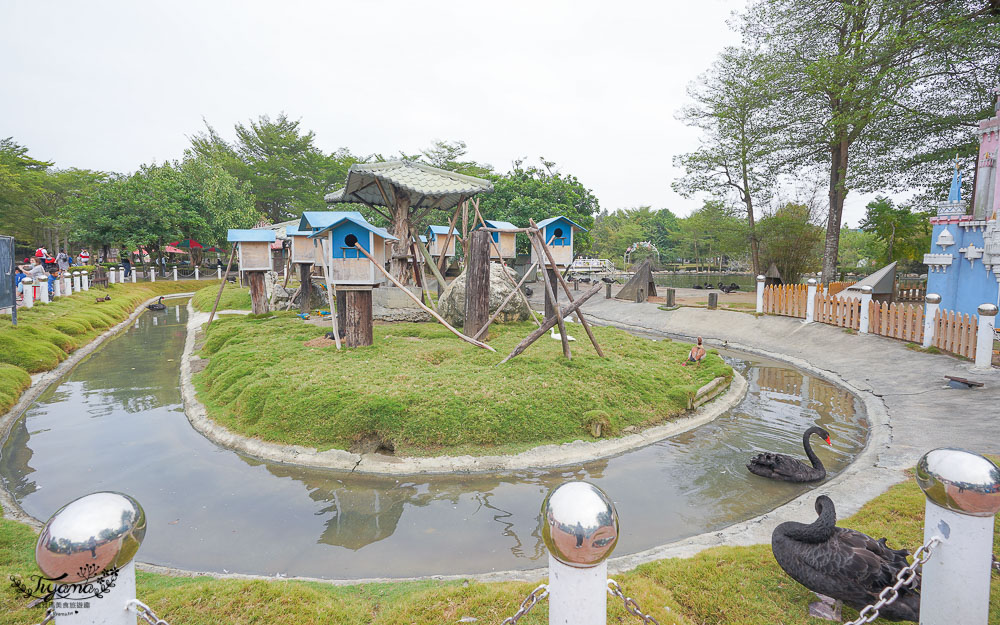
[[[147,299],[192,291],[203,284],[193,280],[162,280],[92,287],[48,304],[19,308],[16,328],[9,315],[0,317],[0,414],[10,410],[28,388],[31,383],[28,374],[55,368],[74,350],[128,317]],[[110,295],[111,301],[95,301],[105,295]]]

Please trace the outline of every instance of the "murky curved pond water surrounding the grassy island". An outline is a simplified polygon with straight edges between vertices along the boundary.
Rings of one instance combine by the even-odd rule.
[[[178,389],[187,311],[181,300],[168,305],[46,390],[0,448],[0,479],[36,518],[89,492],[136,497],[149,524],[144,562],[338,579],[537,568],[546,565],[542,499],[571,479],[614,499],[623,555],[756,516],[809,488],[751,475],[744,464],[758,450],[802,457],[801,433],[818,423],[833,447],[820,443],[817,453],[836,474],[867,436],[846,391],[730,355],[750,383],[739,406],[581,466],[385,478],[263,462],[189,425]]]

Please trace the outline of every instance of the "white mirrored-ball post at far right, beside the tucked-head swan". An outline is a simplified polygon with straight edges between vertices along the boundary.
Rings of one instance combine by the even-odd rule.
[[[940,541],[923,565],[920,623],[986,625],[1000,468],[968,451],[935,449],[917,463],[917,483],[927,496],[924,544]]]

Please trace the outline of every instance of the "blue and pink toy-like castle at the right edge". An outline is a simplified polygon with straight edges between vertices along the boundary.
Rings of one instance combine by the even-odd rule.
[[[1000,112],[1000,109],[998,109]],[[931,251],[924,254],[927,292],[941,296],[941,308],[975,315],[980,304],[1000,305],[1000,115],[979,122],[979,158],[970,207],[962,200],[956,162],[948,199],[931,217]]]

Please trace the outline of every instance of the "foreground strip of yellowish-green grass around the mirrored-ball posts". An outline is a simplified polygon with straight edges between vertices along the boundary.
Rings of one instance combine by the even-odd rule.
[[[892,487],[839,525],[853,527],[889,545],[914,549],[923,538],[924,497],[912,481]],[[811,522],[812,518],[802,518]],[[627,520],[623,520],[626,523]],[[153,531],[151,525],[150,531]],[[0,520],[0,575],[37,572],[36,536],[30,528]],[[994,552],[1000,546],[994,534]],[[139,552],[142,557],[142,551]],[[391,573],[391,562],[386,563]],[[775,563],[768,545],[719,547],[686,559],[666,559],[614,576],[627,594],[662,625],[821,625],[807,616],[815,596]],[[338,625],[440,625],[462,617],[498,625],[511,616],[534,583],[405,582],[330,586],[298,581],[216,580],[139,573],[139,599],[174,625],[337,623]],[[0,623],[31,624],[43,610],[25,609],[27,600],[9,585],[0,590]],[[608,599],[608,623],[638,623],[620,603]],[[1000,586],[992,584],[991,624],[1000,624]],[[844,608],[845,620],[856,612]],[[538,606],[520,622],[542,625],[548,606]],[[878,620],[876,623],[887,623]]]

